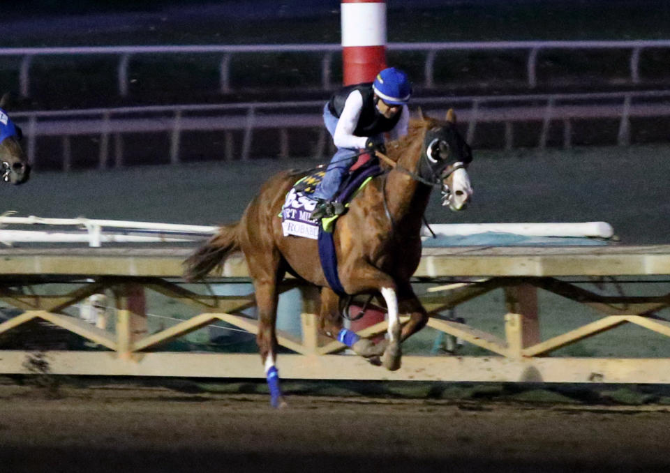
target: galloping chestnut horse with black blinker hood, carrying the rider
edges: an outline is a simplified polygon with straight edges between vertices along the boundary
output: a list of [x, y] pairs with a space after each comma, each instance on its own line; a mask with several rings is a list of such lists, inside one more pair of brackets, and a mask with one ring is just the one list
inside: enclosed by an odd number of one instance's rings
[[[319, 264], [313, 239], [284, 237], [281, 226], [286, 193], [304, 172], [282, 172], [272, 177], [248, 204], [241, 220], [221, 227], [185, 264], [186, 280], [198, 280], [219, 266], [230, 253], [241, 250], [253, 280], [258, 306], [257, 342], [274, 407], [285, 405], [275, 367], [277, 285], [286, 271], [322, 287], [319, 329], [325, 336], [349, 345], [354, 352], [382, 356], [389, 370], [401, 365], [401, 341], [419, 331], [428, 315], [415, 296], [410, 277], [421, 258], [422, 218], [433, 186], [444, 186], [445, 205], [463, 209], [472, 195], [465, 170], [472, 160], [470, 147], [456, 130], [452, 110], [447, 120], [412, 119], [400, 140], [387, 144], [385, 172], [373, 178], [352, 200], [336, 222], [333, 239], [338, 276], [346, 294], [381, 294], [388, 311], [387, 338], [373, 343], [343, 329], [340, 294], [329, 287]], [[409, 315], [401, 326], [400, 315]]]

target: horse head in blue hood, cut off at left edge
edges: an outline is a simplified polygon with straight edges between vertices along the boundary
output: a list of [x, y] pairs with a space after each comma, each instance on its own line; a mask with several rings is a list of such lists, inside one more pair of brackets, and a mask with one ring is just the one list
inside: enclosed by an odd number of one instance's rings
[[14, 122], [4, 108], [8, 94], [0, 99], [0, 173], [2, 180], [12, 184], [22, 184], [30, 177], [30, 165], [20, 145], [21, 128]]

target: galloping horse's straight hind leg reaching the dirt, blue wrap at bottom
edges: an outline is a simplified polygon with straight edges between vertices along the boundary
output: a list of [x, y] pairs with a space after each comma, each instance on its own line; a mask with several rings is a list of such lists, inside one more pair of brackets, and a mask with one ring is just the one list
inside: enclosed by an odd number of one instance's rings
[[277, 282], [278, 276], [274, 274], [253, 280], [259, 322], [256, 343], [258, 343], [260, 358], [265, 366], [271, 405], [272, 407], [285, 407], [286, 402], [279, 386], [279, 373], [275, 366], [278, 346], [275, 331], [278, 302]]

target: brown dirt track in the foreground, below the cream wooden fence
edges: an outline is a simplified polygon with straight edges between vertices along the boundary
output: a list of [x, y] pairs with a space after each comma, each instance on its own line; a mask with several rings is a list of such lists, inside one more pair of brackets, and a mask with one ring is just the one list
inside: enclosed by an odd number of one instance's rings
[[1, 472], [667, 471], [667, 407], [0, 386]]

